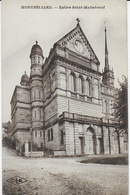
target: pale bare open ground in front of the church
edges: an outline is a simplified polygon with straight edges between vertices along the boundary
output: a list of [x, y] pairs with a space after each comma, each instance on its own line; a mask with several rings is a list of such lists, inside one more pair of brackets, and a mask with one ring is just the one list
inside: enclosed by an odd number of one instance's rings
[[[3, 147], [4, 195], [127, 195], [128, 166], [84, 164], [77, 158], [22, 158]], [[10, 183], [19, 176], [27, 181]], [[23, 179], [21, 179], [24, 181]]]

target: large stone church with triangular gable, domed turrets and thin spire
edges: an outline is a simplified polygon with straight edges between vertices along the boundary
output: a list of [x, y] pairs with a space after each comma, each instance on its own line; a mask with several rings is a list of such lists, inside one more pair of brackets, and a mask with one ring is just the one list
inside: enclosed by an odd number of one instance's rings
[[36, 41], [31, 72], [21, 77], [11, 99], [12, 139], [17, 152], [45, 155], [127, 152], [125, 133], [114, 119], [114, 71], [110, 67], [107, 29], [104, 70], [84, 34], [76, 27], [54, 43], [44, 60]]

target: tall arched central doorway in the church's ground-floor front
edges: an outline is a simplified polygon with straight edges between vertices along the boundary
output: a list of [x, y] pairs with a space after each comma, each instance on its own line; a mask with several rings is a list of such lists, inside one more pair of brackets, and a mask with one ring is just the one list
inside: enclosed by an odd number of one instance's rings
[[86, 153], [96, 154], [96, 133], [92, 127], [86, 130]]

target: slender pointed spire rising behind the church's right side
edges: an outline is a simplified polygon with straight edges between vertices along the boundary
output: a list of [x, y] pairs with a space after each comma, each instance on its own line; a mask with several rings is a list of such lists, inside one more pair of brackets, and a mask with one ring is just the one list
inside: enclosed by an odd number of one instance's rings
[[107, 86], [114, 86], [114, 72], [110, 68], [108, 60], [108, 48], [107, 48], [107, 29], [105, 27], [105, 67], [103, 71], [102, 82]]

